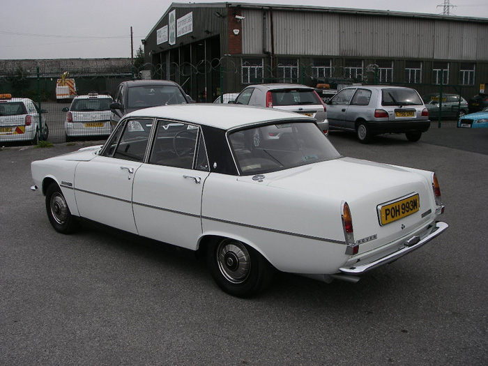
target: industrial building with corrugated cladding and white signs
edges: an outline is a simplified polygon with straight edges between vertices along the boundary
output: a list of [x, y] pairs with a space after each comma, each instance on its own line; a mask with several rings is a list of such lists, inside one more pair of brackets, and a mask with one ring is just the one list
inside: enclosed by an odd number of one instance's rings
[[142, 75], [199, 102], [248, 84], [408, 85], [465, 98], [488, 82], [488, 19], [262, 3], [172, 3], [142, 40]]

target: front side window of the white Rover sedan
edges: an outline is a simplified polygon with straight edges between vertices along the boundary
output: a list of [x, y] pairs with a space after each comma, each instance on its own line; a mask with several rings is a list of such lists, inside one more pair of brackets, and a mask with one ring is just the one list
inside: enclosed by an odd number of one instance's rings
[[146, 154], [152, 122], [151, 119], [129, 119], [119, 124], [102, 155], [142, 162]]

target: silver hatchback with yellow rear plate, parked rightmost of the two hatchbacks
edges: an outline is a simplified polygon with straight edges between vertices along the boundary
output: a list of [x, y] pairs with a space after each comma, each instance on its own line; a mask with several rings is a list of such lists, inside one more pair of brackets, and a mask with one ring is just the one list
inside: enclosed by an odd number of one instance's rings
[[409, 141], [429, 130], [429, 111], [415, 89], [402, 86], [351, 86], [327, 102], [331, 129], [356, 132], [367, 144], [374, 135], [404, 133]]

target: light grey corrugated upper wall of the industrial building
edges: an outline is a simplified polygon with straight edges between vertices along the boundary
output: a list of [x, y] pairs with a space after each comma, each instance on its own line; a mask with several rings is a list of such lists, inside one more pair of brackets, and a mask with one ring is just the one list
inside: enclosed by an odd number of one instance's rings
[[[243, 54], [262, 53], [264, 26], [270, 51], [269, 10], [243, 8], [243, 16]], [[488, 59], [488, 47], [480, 47], [487, 45], [488, 27], [475, 22], [273, 9], [273, 28], [275, 54]]]

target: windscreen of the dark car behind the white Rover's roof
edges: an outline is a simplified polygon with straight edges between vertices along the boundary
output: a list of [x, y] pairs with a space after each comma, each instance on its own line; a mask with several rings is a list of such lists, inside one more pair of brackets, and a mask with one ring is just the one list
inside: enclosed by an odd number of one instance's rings
[[186, 102], [181, 90], [174, 85], [132, 86], [128, 93], [128, 108], [141, 109]]

